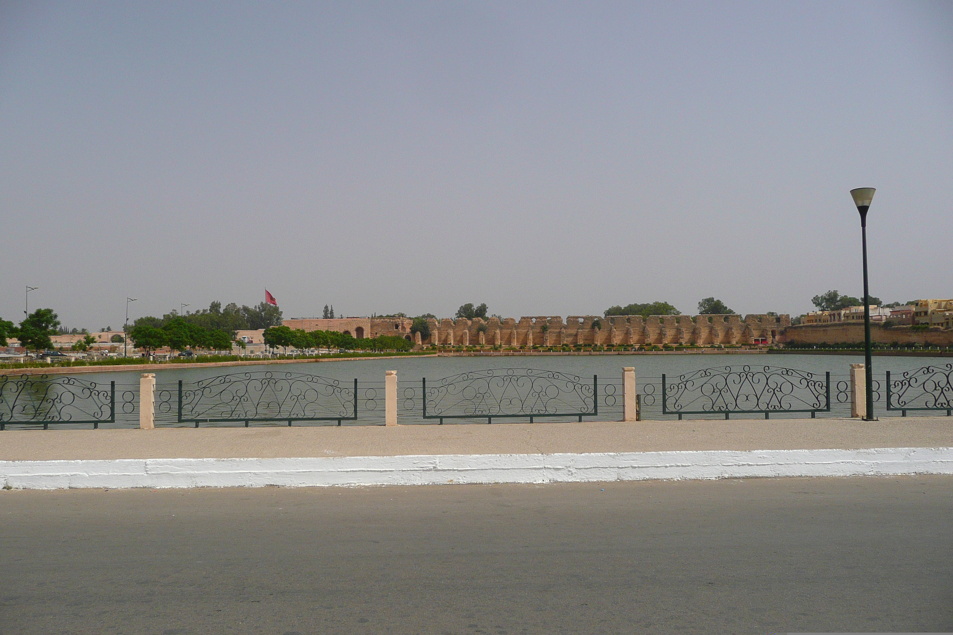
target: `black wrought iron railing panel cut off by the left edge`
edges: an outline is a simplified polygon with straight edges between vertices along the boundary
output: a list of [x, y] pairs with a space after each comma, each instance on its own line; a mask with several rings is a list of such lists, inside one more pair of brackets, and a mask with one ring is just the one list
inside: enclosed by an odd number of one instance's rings
[[70, 375], [0, 375], [0, 430], [8, 424], [112, 424], [116, 384]]

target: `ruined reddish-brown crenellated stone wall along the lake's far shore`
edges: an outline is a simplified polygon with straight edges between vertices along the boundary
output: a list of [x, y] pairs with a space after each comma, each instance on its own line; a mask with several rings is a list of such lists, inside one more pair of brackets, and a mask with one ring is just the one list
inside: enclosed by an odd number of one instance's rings
[[781, 330], [791, 325], [781, 315], [570, 315], [492, 317], [488, 320], [429, 320], [431, 346], [645, 346], [662, 344], [753, 344], [778, 342]]

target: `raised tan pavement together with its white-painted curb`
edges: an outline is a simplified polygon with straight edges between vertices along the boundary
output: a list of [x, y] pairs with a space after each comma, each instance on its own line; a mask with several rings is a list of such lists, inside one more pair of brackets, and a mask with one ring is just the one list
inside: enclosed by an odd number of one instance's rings
[[0, 433], [10, 487], [371, 486], [953, 473], [945, 418]]

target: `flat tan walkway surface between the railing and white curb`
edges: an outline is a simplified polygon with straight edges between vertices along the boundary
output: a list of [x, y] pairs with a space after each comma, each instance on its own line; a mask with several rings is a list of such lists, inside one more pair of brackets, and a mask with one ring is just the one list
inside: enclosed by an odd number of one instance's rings
[[953, 447], [953, 418], [5, 430], [0, 461]]

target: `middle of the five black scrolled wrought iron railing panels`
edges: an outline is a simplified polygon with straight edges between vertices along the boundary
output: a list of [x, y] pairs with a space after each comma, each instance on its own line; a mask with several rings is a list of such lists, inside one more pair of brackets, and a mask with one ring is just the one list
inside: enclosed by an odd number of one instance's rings
[[427, 384], [422, 380], [423, 418], [494, 419], [598, 415], [598, 377], [535, 368], [473, 370]]

